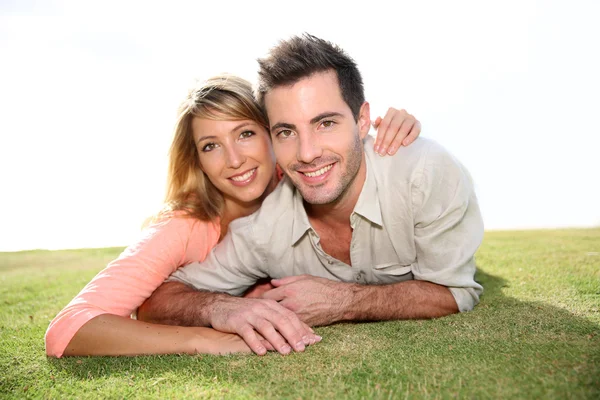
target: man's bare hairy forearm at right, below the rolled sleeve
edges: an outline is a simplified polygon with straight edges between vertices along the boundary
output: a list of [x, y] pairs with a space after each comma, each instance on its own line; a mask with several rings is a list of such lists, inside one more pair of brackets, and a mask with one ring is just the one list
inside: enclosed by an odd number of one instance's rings
[[458, 312], [450, 290], [426, 281], [406, 281], [391, 285], [354, 285], [344, 309], [344, 319], [378, 321], [427, 319]]

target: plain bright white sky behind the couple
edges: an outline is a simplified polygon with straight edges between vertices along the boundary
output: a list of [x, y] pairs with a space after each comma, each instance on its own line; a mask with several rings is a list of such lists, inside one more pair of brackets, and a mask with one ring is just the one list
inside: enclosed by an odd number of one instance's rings
[[600, 225], [598, 4], [1, 0], [0, 251], [135, 240], [193, 80], [304, 31], [469, 168], [487, 229]]

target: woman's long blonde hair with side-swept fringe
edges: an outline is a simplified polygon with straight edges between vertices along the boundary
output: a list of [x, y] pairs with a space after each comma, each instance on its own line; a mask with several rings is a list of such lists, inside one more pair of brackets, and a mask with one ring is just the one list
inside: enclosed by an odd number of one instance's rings
[[181, 103], [171, 149], [165, 207], [159, 216], [183, 211], [203, 221], [220, 217], [223, 196], [200, 169], [192, 119], [252, 120], [267, 130], [267, 119], [256, 103], [252, 86], [233, 75], [218, 75], [195, 86]]

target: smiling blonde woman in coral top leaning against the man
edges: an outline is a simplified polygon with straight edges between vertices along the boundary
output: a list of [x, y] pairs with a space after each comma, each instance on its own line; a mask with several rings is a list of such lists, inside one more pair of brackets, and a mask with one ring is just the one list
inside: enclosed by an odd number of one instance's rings
[[[394, 109], [374, 125], [380, 154], [388, 147], [393, 154], [420, 132], [414, 117]], [[267, 126], [250, 84], [241, 78], [217, 76], [190, 91], [170, 149], [165, 209], [54, 318], [46, 332], [47, 355], [250, 351], [234, 334], [129, 316], [177, 268], [204, 260], [229, 223], [256, 211], [275, 188], [281, 176]]]

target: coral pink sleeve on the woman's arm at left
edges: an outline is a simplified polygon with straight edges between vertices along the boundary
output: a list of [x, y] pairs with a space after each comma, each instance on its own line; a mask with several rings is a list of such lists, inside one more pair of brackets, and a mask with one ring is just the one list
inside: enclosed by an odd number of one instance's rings
[[135, 244], [100, 271], [52, 320], [46, 354], [61, 357], [77, 331], [101, 314], [128, 317], [179, 266], [203, 260], [219, 238], [218, 225], [172, 217], [149, 226]]

